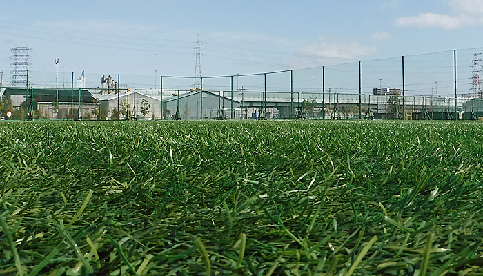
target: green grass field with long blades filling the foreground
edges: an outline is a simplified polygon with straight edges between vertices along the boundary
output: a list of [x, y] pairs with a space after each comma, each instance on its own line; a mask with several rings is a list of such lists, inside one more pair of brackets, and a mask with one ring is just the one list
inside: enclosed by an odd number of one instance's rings
[[482, 275], [483, 124], [2, 122], [0, 275]]

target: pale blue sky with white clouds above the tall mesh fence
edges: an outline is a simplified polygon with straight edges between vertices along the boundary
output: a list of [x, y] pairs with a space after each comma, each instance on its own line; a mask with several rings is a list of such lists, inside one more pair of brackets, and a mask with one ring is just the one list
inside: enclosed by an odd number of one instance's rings
[[0, 71], [9, 80], [10, 49], [28, 46], [30, 69], [55, 72], [59, 57], [63, 82], [194, 77], [197, 34], [203, 76], [298, 70], [481, 48], [482, 26], [483, 0], [3, 1]]

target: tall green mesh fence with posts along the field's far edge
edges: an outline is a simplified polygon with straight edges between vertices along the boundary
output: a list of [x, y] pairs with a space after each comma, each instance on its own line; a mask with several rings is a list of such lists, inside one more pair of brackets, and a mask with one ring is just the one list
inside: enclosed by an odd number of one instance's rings
[[[9, 90], [19, 87], [0, 84], [0, 116], [11, 109], [14, 119], [474, 120], [483, 106], [479, 52], [483, 48], [201, 78], [30, 70], [28, 88], [14, 99]], [[50, 97], [39, 96], [49, 89]], [[92, 99], [52, 99], [52, 90], [87, 90]]]

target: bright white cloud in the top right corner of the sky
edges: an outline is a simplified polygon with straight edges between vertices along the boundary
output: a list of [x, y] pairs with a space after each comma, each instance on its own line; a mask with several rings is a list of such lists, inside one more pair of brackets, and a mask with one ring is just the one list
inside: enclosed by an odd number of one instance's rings
[[417, 16], [400, 17], [396, 26], [455, 29], [483, 24], [482, 0], [449, 0], [451, 15], [426, 12]]

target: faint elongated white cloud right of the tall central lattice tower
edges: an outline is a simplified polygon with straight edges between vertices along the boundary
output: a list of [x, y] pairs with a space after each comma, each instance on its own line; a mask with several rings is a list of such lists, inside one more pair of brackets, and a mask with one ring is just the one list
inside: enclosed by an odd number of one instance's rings
[[319, 58], [358, 59], [375, 52], [377, 52], [377, 47], [375, 46], [362, 46], [356, 41], [327, 41], [327, 39], [324, 38], [319, 39], [319, 41], [315, 43], [299, 48], [299, 54]]

